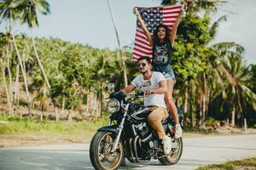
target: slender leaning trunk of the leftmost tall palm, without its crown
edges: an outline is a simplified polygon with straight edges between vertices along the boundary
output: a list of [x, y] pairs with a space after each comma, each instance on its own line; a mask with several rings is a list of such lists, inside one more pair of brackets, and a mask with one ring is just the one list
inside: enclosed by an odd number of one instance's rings
[[16, 50], [16, 53], [17, 53], [17, 56], [18, 56], [18, 59], [19, 59], [20, 68], [21, 68], [22, 76], [23, 76], [24, 83], [25, 83], [28, 114], [29, 114], [29, 116], [31, 116], [31, 111], [30, 111], [31, 101], [30, 101], [30, 95], [29, 95], [29, 92], [28, 92], [26, 73], [25, 73], [25, 70], [24, 70], [24, 67], [23, 67], [23, 64], [22, 64], [22, 60], [20, 58], [20, 53], [19, 53], [19, 50], [17, 48], [17, 44], [15, 42], [15, 36], [12, 33], [11, 33], [11, 36], [12, 36], [14, 44], [15, 44], [15, 50]]

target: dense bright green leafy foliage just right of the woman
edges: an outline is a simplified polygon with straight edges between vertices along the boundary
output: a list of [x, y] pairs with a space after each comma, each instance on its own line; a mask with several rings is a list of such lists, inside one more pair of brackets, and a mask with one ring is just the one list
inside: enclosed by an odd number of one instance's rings
[[207, 16], [201, 19], [188, 15], [179, 26], [172, 65], [177, 77], [182, 80], [195, 79], [201, 71], [207, 69], [207, 60], [212, 56], [211, 49], [206, 47], [211, 40], [209, 22]]

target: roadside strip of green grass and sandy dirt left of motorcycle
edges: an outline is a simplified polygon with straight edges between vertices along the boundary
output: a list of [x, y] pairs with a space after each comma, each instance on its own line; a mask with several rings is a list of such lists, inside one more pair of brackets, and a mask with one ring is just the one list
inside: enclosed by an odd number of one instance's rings
[[96, 129], [108, 124], [107, 118], [91, 119], [90, 121], [49, 121], [11, 117], [0, 114], [0, 147], [87, 143], [96, 133]]

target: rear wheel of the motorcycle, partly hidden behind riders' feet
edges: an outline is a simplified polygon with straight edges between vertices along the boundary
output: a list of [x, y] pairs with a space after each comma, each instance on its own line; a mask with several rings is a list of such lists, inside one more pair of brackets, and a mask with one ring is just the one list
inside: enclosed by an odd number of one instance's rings
[[179, 161], [183, 153], [183, 139], [179, 138], [177, 140], [177, 149], [172, 149], [171, 153], [167, 156], [161, 157], [159, 161], [163, 165], [174, 165]]

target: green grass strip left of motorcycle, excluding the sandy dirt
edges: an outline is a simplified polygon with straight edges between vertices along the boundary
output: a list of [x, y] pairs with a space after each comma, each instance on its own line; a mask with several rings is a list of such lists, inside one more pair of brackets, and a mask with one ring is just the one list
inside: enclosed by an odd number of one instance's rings
[[35, 119], [11, 117], [0, 115], [0, 134], [14, 133], [60, 133], [60, 134], [82, 134], [86, 132], [95, 132], [98, 127], [106, 125], [107, 119], [97, 119], [81, 122], [55, 122], [45, 120], [43, 122]]

